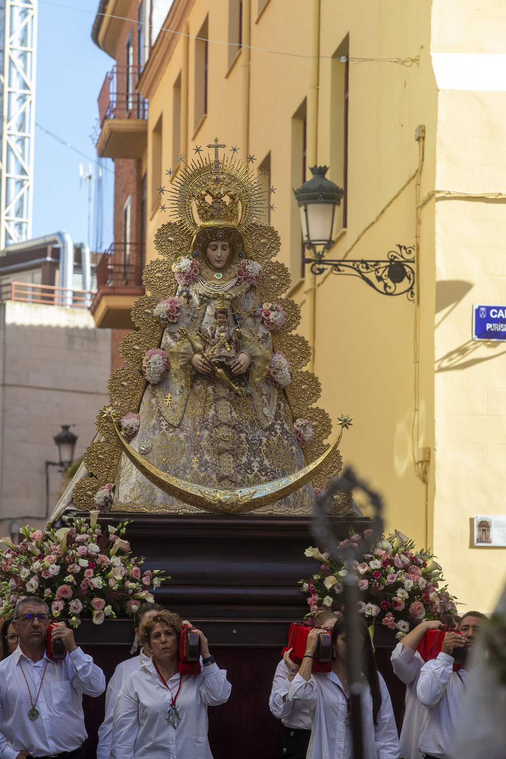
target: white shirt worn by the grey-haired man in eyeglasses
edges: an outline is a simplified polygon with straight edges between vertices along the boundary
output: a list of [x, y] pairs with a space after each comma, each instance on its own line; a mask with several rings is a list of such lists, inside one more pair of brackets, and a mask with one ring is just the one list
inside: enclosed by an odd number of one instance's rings
[[[21, 666], [35, 702], [46, 663], [46, 676], [36, 702], [39, 717], [30, 720], [30, 694]], [[44, 653], [40, 661], [33, 663], [18, 646], [0, 662], [1, 759], [16, 759], [20, 751], [43, 757], [79, 748], [88, 737], [81, 706], [83, 693], [99, 696], [104, 690], [102, 669], [80, 648], [64, 659], [48, 659]]]

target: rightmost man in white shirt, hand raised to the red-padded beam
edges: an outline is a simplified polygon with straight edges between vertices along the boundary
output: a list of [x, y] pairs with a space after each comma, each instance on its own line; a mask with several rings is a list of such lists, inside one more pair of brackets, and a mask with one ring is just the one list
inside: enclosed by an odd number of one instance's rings
[[[467, 679], [470, 649], [483, 619], [485, 615], [480, 612], [464, 614], [458, 632], [447, 632], [441, 653], [420, 670], [416, 694], [427, 709], [420, 728], [418, 748], [425, 754], [425, 759], [447, 759], [451, 752], [457, 714]], [[451, 652], [454, 648], [461, 648], [463, 652], [459, 672], [453, 671], [454, 659]]]

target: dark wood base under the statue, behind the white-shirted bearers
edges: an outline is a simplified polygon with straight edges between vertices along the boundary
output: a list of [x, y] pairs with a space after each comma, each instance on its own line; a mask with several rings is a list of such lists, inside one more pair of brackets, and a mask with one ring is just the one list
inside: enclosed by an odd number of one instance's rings
[[[132, 518], [130, 515], [127, 515]], [[103, 515], [102, 524], [118, 524], [122, 515]], [[333, 518], [341, 539], [350, 528], [368, 528], [368, 518]], [[144, 568], [162, 569], [171, 579], [156, 590], [156, 601], [190, 619], [205, 633], [220, 667], [227, 669], [231, 697], [209, 708], [209, 743], [214, 759], [270, 759], [283, 732], [269, 711], [269, 694], [281, 648], [291, 622], [308, 612], [300, 580], [318, 562], [304, 556], [315, 543], [309, 518], [158, 517], [135, 515], [126, 537]], [[397, 642], [392, 631], [375, 634], [376, 659], [401, 720], [404, 685], [391, 670], [390, 653]], [[134, 638], [130, 620], [93, 625], [83, 620], [77, 642], [102, 667], [108, 680], [127, 659]], [[105, 697], [84, 697], [86, 756], [94, 759], [96, 733]]]

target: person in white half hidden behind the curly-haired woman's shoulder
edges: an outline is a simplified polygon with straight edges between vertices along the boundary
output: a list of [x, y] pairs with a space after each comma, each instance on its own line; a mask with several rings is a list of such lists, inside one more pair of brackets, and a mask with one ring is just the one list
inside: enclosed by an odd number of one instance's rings
[[[139, 638], [139, 628], [142, 622], [149, 616], [162, 612], [163, 606], [159, 603], [141, 603], [137, 612], [134, 614], [135, 623], [135, 641], [134, 648], [137, 647], [137, 640]], [[132, 651], [130, 651], [132, 653]], [[99, 745], [96, 747], [96, 759], [109, 759], [111, 756], [111, 738], [112, 738], [112, 714], [115, 710], [116, 696], [121, 690], [121, 686], [130, 675], [141, 664], [149, 662], [152, 656], [152, 651], [149, 648], [149, 644], [145, 644], [140, 649], [138, 657], [132, 657], [124, 662], [118, 664], [115, 669], [115, 673], [109, 680], [107, 691], [105, 693], [105, 718], [102, 725], [99, 727]]]

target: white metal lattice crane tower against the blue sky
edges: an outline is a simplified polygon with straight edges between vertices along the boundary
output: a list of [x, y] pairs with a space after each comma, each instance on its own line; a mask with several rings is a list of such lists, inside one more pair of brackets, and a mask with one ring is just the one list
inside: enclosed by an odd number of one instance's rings
[[32, 236], [38, 0], [0, 0], [0, 250]]

